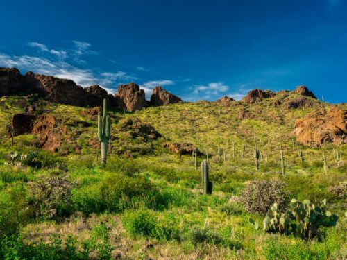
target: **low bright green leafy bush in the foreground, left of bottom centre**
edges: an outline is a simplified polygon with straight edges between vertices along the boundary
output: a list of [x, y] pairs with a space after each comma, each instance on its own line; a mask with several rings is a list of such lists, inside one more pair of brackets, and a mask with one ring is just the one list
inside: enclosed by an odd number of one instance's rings
[[144, 236], [163, 241], [180, 239], [178, 229], [176, 229], [174, 223], [168, 218], [159, 219], [153, 211], [126, 211], [122, 223], [126, 232], [133, 238]]

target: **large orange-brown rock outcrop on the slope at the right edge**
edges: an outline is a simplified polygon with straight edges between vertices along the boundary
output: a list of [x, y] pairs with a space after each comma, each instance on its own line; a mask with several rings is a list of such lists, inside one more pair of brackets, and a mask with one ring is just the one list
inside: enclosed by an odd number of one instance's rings
[[296, 120], [293, 133], [296, 141], [307, 146], [344, 144], [347, 141], [347, 111], [333, 107], [327, 114], [314, 112]]

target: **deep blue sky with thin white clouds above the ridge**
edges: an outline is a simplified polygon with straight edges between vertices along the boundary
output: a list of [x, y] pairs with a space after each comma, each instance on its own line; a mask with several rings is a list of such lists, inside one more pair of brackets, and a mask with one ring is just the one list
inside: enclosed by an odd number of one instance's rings
[[0, 66], [186, 101], [307, 85], [346, 102], [347, 1], [6, 1]]

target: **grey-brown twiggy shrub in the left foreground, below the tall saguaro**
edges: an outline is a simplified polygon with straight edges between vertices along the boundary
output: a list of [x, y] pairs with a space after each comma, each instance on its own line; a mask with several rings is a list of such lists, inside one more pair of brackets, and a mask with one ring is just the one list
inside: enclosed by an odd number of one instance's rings
[[67, 216], [74, 210], [71, 189], [74, 183], [69, 176], [38, 177], [29, 182], [31, 191], [29, 205], [37, 218], [57, 218]]

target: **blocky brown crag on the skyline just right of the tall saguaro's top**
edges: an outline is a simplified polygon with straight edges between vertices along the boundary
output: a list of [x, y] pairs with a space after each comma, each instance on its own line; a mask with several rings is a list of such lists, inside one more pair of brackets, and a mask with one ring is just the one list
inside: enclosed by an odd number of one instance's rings
[[115, 97], [117, 105], [130, 112], [141, 110], [147, 105], [144, 89], [140, 89], [135, 83], [119, 85]]

